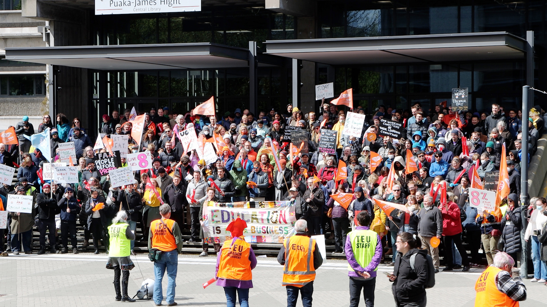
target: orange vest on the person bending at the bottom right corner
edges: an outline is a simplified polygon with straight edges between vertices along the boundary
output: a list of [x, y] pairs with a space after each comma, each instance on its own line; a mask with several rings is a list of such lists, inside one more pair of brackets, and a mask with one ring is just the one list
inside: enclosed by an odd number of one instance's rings
[[475, 284], [475, 307], [519, 307], [519, 302], [500, 292], [496, 286], [496, 276], [502, 269], [488, 267]]

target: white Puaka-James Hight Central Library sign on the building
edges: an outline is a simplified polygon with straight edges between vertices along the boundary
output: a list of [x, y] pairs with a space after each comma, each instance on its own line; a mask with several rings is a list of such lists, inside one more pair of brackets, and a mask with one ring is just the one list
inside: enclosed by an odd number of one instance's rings
[[97, 0], [95, 15], [201, 11], [201, 0]]

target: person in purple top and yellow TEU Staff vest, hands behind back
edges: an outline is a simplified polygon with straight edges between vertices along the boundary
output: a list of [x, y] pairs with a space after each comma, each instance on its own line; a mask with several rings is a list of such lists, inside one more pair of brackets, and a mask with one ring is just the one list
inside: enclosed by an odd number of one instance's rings
[[380, 235], [370, 230], [370, 215], [360, 211], [356, 217], [357, 227], [347, 234], [346, 259], [350, 276], [350, 307], [359, 306], [363, 291], [366, 307], [374, 306], [376, 270], [382, 258]]

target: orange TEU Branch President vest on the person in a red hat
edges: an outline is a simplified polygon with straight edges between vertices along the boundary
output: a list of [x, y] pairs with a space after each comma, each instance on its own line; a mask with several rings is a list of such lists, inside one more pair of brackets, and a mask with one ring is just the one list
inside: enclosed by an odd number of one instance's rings
[[217, 278], [252, 280], [250, 253], [251, 244], [247, 243], [243, 237], [224, 241], [220, 250]]

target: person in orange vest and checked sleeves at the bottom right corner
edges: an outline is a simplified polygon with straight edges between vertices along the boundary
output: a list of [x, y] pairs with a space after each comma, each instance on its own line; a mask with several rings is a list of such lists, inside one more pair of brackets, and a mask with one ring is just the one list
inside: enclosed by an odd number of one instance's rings
[[494, 262], [475, 284], [475, 307], [519, 307], [526, 300], [526, 286], [519, 276], [511, 278], [515, 261], [506, 252], [498, 252]]

